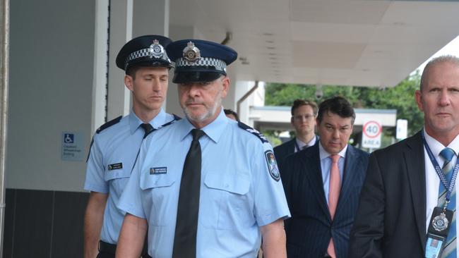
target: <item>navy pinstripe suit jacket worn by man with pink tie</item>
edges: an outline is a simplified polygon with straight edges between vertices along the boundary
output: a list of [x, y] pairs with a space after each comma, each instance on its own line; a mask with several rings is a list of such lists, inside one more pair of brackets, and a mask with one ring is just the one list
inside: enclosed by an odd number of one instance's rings
[[323, 257], [332, 235], [337, 257], [347, 257], [349, 233], [368, 157], [368, 153], [348, 145], [333, 221], [323, 190], [318, 144], [287, 157], [280, 174], [292, 214], [292, 218], [285, 221], [287, 257]]

